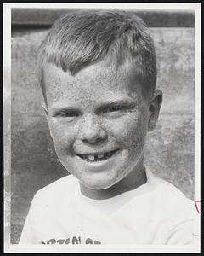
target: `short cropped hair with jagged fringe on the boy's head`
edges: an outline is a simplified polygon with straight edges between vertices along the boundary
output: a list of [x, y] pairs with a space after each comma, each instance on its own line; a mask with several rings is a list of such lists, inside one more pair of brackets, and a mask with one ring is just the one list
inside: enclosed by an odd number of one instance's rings
[[39, 79], [45, 100], [44, 65], [54, 63], [75, 75], [82, 67], [104, 59], [116, 63], [116, 68], [127, 61], [135, 67], [145, 93], [155, 90], [155, 47], [144, 21], [124, 11], [77, 11], [55, 21], [39, 49]]

